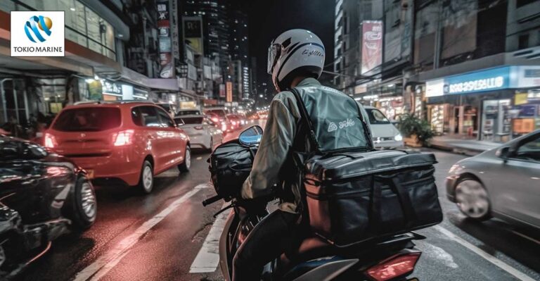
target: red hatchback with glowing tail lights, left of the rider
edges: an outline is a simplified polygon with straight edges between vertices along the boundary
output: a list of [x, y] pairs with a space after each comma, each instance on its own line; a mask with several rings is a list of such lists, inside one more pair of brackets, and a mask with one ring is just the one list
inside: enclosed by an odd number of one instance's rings
[[154, 175], [191, 166], [188, 136], [150, 103], [68, 106], [46, 130], [44, 144], [72, 158], [95, 182], [120, 180], [145, 193], [152, 191]]

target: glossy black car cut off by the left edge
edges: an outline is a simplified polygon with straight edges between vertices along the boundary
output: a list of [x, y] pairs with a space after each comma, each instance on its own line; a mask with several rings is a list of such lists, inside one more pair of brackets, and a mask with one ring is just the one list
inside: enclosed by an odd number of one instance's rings
[[96, 220], [94, 187], [75, 163], [0, 135], [0, 280], [41, 256], [51, 241]]

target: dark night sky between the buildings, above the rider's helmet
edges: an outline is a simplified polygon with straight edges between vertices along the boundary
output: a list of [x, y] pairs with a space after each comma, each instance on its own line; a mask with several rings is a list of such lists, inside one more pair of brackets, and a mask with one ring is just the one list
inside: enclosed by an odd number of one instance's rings
[[335, 0], [238, 1], [248, 14], [250, 56], [257, 58], [258, 83], [266, 81], [269, 92], [273, 87], [270, 75], [266, 73], [266, 55], [270, 42], [281, 32], [293, 28], [311, 30], [323, 40], [326, 49], [325, 65], [332, 63]]

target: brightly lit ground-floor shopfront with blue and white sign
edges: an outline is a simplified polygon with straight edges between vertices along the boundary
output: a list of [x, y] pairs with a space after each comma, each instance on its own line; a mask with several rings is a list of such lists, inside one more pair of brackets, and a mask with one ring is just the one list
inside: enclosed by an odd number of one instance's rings
[[437, 135], [507, 142], [540, 128], [539, 66], [503, 66], [426, 82]]

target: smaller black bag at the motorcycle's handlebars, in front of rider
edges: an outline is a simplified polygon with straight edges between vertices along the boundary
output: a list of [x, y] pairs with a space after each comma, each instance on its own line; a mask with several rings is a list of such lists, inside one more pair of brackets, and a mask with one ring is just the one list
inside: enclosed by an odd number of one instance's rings
[[218, 146], [210, 155], [210, 179], [214, 189], [225, 201], [238, 196], [250, 175], [257, 147], [247, 147], [237, 141]]

